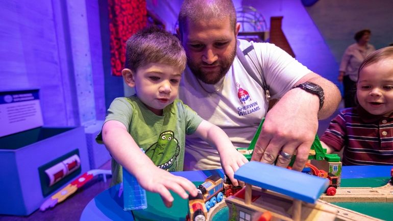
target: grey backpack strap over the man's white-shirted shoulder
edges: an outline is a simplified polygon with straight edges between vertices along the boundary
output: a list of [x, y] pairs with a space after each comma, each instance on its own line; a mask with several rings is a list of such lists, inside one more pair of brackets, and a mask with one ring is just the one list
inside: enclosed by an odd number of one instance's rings
[[[239, 48], [239, 44], [240, 42], [237, 43], [236, 48], [237, 58], [239, 59], [240, 63], [243, 65], [249, 76], [253, 78], [265, 91], [266, 101], [268, 102], [270, 100], [269, 86], [266, 85], [262, 67], [258, 62], [257, 53], [254, 50], [254, 46], [250, 44], [250, 46], [241, 51]], [[255, 72], [260, 73], [261, 79], [257, 77]]]

